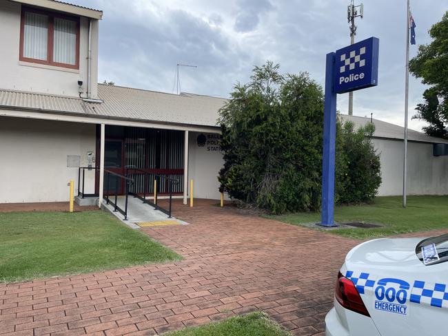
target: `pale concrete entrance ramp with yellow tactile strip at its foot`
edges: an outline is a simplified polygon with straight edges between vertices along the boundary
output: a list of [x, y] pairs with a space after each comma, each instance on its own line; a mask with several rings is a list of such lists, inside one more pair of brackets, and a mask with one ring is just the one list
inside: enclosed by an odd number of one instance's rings
[[[111, 198], [111, 200], [114, 200]], [[116, 200], [121, 209], [125, 209], [125, 196], [119, 196]], [[112, 204], [106, 204], [103, 200], [103, 206], [119, 218], [123, 223], [139, 229], [140, 227], [158, 227], [164, 225], [185, 225], [187, 222], [178, 220], [174, 217], [169, 218], [167, 214], [162, 211], [154, 209], [150, 204], [143, 203], [139, 198], [128, 196], [128, 220], [124, 220], [123, 215], [118, 211], [114, 211]]]

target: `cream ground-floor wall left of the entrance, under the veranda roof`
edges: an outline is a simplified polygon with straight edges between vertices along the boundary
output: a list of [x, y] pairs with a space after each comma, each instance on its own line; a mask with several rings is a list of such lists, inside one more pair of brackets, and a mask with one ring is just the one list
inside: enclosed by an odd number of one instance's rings
[[[78, 169], [67, 167], [67, 156], [95, 151], [95, 125], [0, 117], [0, 203], [62, 202], [67, 183]], [[85, 193], [94, 192], [94, 171], [86, 171]]]

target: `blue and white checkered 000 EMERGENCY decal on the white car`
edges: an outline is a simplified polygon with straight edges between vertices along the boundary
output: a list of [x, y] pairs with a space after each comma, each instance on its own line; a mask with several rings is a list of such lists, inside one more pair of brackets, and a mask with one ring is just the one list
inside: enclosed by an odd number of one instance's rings
[[366, 288], [372, 288], [375, 295], [374, 308], [379, 311], [407, 315], [407, 303], [409, 302], [448, 308], [447, 284], [415, 280], [414, 286], [411, 287], [405, 280], [394, 277], [376, 280], [371, 273], [355, 271], [347, 271], [345, 277], [352, 280], [360, 295], [365, 294]]

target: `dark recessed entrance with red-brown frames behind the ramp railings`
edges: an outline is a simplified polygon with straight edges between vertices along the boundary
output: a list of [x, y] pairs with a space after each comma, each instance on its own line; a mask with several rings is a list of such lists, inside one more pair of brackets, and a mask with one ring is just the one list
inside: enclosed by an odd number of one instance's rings
[[[99, 137], [97, 137], [99, 147]], [[154, 193], [157, 180], [159, 195], [169, 192], [168, 180], [156, 177], [143, 178], [147, 174], [159, 174], [179, 180], [173, 185], [173, 194], [183, 194], [184, 135], [169, 129], [145, 129], [140, 127], [105, 127], [105, 169], [134, 180], [132, 191], [146, 195]], [[99, 151], [97, 151], [99, 153]], [[109, 179], [109, 189], [108, 189]], [[112, 174], [104, 176], [105, 193], [124, 193], [124, 180]]]

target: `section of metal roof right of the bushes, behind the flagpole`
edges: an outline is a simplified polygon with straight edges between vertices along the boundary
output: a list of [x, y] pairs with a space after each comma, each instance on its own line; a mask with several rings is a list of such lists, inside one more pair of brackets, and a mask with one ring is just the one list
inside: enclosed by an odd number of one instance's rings
[[[347, 116], [346, 114], [340, 114], [340, 118], [342, 118], [342, 120], [352, 121], [356, 127], [364, 126], [367, 123], [370, 123], [370, 118], [361, 116]], [[375, 125], [374, 136], [376, 138], [389, 138], [397, 140], [403, 140], [405, 138], [405, 127], [386, 123], [385, 121], [378, 119], [372, 119], [372, 122]], [[414, 131], [414, 129], [407, 130], [407, 139], [410, 141], [420, 141], [423, 143], [448, 143], [448, 140], [427, 136], [422, 132]]]

